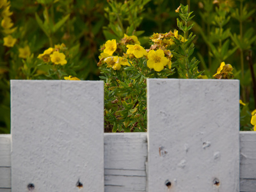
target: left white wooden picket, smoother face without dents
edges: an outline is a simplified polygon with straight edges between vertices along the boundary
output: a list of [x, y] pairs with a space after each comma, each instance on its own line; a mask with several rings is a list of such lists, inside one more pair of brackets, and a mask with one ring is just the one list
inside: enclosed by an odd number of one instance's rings
[[11, 93], [12, 191], [104, 191], [103, 82], [16, 80]]

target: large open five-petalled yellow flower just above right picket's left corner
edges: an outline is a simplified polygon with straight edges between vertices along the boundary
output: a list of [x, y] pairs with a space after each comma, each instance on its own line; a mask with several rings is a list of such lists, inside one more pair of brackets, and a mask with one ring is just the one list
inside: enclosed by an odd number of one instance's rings
[[[164, 51], [158, 49], [157, 51], [151, 50], [148, 52], [148, 68], [154, 68], [157, 72], [163, 70], [164, 66], [167, 65], [169, 60], [164, 57]], [[171, 63], [172, 67], [172, 63]]]

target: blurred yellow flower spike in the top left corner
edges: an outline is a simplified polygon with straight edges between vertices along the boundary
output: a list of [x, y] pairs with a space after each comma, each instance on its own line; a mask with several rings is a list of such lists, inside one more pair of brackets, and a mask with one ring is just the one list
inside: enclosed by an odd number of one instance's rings
[[3, 28], [3, 33], [6, 35], [4, 40], [4, 46], [13, 47], [17, 42], [17, 38], [13, 38], [11, 35], [17, 28], [13, 28], [13, 22], [10, 16], [13, 12], [10, 12], [10, 1], [2, 0], [0, 1], [0, 10], [1, 10], [1, 27]]

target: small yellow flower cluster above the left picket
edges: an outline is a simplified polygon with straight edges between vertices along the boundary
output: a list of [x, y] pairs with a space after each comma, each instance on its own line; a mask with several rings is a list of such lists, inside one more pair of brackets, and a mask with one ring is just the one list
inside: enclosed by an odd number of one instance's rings
[[49, 47], [46, 49], [44, 53], [39, 54], [37, 58], [43, 60], [45, 63], [52, 62], [55, 65], [65, 65], [67, 64], [66, 56], [63, 53], [65, 51], [66, 46], [64, 44], [54, 45], [54, 48]]

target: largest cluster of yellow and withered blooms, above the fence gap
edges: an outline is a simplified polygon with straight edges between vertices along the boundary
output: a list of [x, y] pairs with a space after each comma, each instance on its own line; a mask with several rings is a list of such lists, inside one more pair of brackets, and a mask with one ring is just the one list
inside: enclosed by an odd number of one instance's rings
[[[107, 68], [120, 70], [122, 65], [129, 66], [130, 63], [138, 63], [138, 59], [147, 61], [147, 67], [161, 72], [165, 66], [170, 70], [172, 68], [172, 52], [167, 49], [168, 45], [173, 45], [174, 33], [154, 33], [151, 40], [153, 45], [150, 49], [144, 49], [135, 35], [124, 35], [120, 42], [108, 40], [102, 46], [103, 52], [99, 56], [98, 66], [106, 64]], [[121, 52], [120, 52], [121, 50]], [[113, 56], [116, 53], [118, 56]]]

